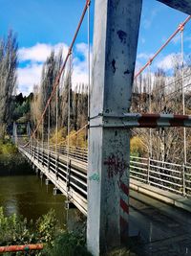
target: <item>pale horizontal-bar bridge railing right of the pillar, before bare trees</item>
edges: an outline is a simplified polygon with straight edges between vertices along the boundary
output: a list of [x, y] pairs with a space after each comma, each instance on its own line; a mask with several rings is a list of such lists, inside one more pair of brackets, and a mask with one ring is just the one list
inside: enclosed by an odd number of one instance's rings
[[191, 196], [191, 166], [131, 156], [130, 177], [163, 190]]

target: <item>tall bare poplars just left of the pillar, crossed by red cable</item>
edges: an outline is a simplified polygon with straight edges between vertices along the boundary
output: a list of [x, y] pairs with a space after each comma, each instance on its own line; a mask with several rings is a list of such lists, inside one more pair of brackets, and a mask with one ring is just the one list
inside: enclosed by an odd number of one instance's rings
[[[50, 57], [47, 58], [43, 65], [40, 84], [34, 85], [31, 104], [31, 121], [33, 127], [37, 125], [47, 101], [51, 96], [54, 81], [62, 62], [61, 51], [57, 55], [52, 51]], [[65, 76], [62, 76], [59, 86], [53, 95], [51, 104], [44, 115], [44, 133], [47, 134], [48, 132], [49, 122], [51, 132], [53, 133], [57, 122], [58, 129], [62, 128], [64, 135], [66, 135], [69, 118], [70, 130], [78, 130], [88, 122], [88, 88], [84, 83], [76, 84], [73, 87], [72, 64], [68, 66]], [[39, 133], [41, 132], [40, 129]]]

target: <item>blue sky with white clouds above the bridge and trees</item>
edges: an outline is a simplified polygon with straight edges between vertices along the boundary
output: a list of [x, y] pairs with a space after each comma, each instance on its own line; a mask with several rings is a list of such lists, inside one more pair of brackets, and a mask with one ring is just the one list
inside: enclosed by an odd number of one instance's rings
[[[0, 0], [0, 37], [12, 29], [19, 43], [18, 91], [25, 95], [40, 81], [43, 62], [54, 49], [66, 55], [85, 0]], [[143, 0], [138, 40], [137, 66], [152, 56], [159, 46], [186, 18], [186, 14], [170, 9], [155, 0]], [[94, 1], [91, 6], [93, 37]], [[185, 56], [191, 49], [191, 23], [184, 31]], [[92, 39], [91, 39], [92, 41]], [[153, 63], [166, 71], [172, 68], [172, 56], [180, 55], [180, 35]], [[74, 45], [73, 82], [87, 81], [87, 17]]]

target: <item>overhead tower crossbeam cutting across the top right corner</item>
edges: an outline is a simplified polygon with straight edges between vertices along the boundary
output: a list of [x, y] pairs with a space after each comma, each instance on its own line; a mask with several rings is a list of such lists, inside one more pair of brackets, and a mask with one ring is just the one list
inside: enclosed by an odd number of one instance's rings
[[191, 1], [190, 0], [157, 0], [169, 7], [185, 12], [191, 15]]

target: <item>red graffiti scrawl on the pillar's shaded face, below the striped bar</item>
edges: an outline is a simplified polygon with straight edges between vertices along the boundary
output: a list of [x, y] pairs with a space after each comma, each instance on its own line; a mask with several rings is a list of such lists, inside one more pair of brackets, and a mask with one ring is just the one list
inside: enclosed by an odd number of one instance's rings
[[127, 167], [124, 159], [120, 159], [118, 156], [112, 154], [108, 157], [106, 161], [104, 161], [104, 165], [108, 166], [108, 177], [114, 177], [114, 175], [118, 175], [121, 177]]

